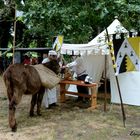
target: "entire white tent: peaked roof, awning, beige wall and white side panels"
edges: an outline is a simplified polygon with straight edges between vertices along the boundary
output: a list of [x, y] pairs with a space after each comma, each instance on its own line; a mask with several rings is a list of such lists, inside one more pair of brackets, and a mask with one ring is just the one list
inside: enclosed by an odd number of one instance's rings
[[[121, 25], [121, 23], [115, 19], [107, 28], [110, 38], [112, 34], [116, 33], [128, 33], [128, 31]], [[88, 44], [63, 44], [62, 54], [81, 54], [84, 58], [85, 65], [87, 67], [88, 74], [92, 76], [93, 81], [99, 82], [102, 72], [105, 66], [105, 55], [109, 54], [107, 50], [108, 45], [105, 42], [106, 31], [97, 35]], [[108, 60], [109, 59], [108, 57]], [[112, 68], [112, 63], [108, 63], [108, 72], [110, 74], [111, 82], [111, 102], [120, 103], [117, 84], [115, 81], [115, 74]], [[122, 100], [125, 104], [140, 106], [140, 72], [128, 72], [118, 75], [120, 90], [122, 94]], [[135, 81], [135, 83], [133, 82]], [[71, 89], [73, 90], [73, 89]]]

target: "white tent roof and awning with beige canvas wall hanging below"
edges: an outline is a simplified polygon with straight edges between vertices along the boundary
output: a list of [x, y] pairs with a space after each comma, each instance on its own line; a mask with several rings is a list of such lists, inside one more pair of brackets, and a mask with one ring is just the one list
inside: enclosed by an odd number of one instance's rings
[[[121, 25], [121, 23], [115, 19], [108, 27], [108, 34], [115, 33], [127, 33], [128, 31]], [[105, 38], [106, 31], [104, 30], [97, 37]], [[95, 37], [95, 39], [97, 39]], [[63, 43], [61, 48], [61, 54], [81, 54], [84, 57], [85, 65], [88, 74], [92, 76], [95, 82], [99, 82], [105, 65], [105, 54], [109, 55], [108, 44], [106, 41], [95, 42], [93, 41], [87, 44], [66, 44]], [[97, 65], [98, 64], [98, 65]], [[111, 65], [111, 64], [110, 64]]]

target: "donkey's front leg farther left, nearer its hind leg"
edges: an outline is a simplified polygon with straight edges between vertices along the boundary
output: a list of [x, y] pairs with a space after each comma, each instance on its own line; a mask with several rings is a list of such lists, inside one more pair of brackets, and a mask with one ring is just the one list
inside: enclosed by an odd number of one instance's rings
[[34, 116], [34, 107], [37, 102], [37, 93], [32, 95], [32, 100], [31, 100], [31, 107], [30, 107], [30, 116]]

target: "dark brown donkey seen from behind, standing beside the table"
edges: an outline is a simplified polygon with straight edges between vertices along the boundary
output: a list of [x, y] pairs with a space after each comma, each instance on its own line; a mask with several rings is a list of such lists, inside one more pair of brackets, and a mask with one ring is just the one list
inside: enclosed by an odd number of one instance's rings
[[[44, 64], [46, 67], [59, 73], [60, 67], [57, 60]], [[20, 103], [22, 95], [32, 95], [30, 116], [34, 116], [34, 107], [37, 104], [37, 115], [41, 115], [41, 102], [45, 87], [43, 87], [37, 70], [30, 65], [12, 64], [3, 74], [9, 100], [9, 125], [13, 132], [17, 131], [15, 118], [16, 106]]]

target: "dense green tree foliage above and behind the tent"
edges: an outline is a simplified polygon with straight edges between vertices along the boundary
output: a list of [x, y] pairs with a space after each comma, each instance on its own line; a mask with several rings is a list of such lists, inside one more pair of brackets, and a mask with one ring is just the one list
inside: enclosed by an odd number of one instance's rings
[[[13, 5], [24, 11], [22, 18], [26, 28], [19, 28], [23, 35], [17, 42], [29, 47], [51, 47], [53, 37], [64, 35], [64, 42], [87, 43], [107, 27], [115, 16], [128, 29], [140, 30], [139, 0], [12, 0], [1, 9], [3, 19], [13, 20]], [[2, 7], [3, 2], [0, 2]], [[3, 13], [3, 14], [2, 14]], [[11, 16], [12, 15], [12, 16]], [[12, 25], [11, 25], [12, 26]], [[21, 27], [21, 26], [19, 26]], [[9, 30], [10, 31], [10, 30]], [[19, 36], [19, 35], [17, 35]]]

